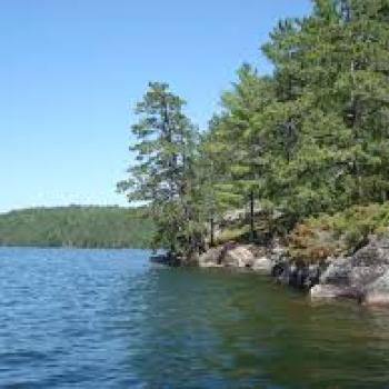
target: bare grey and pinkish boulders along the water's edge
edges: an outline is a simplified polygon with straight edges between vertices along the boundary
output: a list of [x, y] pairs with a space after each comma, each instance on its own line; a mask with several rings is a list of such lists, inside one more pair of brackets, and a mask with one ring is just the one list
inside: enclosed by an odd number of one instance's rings
[[369, 306], [389, 307], [389, 236], [371, 236], [348, 257], [319, 263], [291, 260], [278, 242], [270, 247], [228, 242], [202, 253], [201, 268], [246, 268], [278, 282], [306, 290], [312, 300], [353, 299]]

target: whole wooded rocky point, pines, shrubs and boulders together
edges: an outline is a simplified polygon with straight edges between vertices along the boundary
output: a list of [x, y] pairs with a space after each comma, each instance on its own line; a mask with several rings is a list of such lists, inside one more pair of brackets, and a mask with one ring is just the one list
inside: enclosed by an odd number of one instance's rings
[[389, 303], [387, 23], [381, 1], [280, 21], [262, 46], [273, 72], [241, 66], [203, 130], [149, 83], [119, 190], [148, 205], [167, 263], [262, 267], [312, 298]]

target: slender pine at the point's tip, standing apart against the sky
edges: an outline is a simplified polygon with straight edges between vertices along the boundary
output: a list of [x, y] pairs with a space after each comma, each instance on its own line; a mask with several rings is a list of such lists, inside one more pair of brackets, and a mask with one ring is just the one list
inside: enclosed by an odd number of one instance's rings
[[129, 179], [118, 184], [129, 201], [146, 202], [157, 225], [153, 245], [177, 256], [187, 235], [192, 178], [192, 156], [197, 132], [183, 114], [184, 101], [169, 91], [167, 83], [150, 82], [132, 126], [136, 143], [130, 147], [136, 163]]

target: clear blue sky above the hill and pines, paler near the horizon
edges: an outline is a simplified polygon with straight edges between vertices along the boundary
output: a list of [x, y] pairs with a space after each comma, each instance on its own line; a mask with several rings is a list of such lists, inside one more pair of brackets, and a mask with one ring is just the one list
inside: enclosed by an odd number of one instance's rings
[[167, 81], [205, 127], [243, 61], [309, 0], [2, 0], [0, 212], [124, 205], [131, 107]]

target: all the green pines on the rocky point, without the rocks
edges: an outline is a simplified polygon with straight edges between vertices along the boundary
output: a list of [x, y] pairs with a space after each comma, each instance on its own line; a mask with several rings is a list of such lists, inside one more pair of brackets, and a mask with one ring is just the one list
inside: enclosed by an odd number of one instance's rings
[[315, 0], [263, 44], [272, 73], [245, 63], [201, 131], [184, 100], [151, 82], [136, 107], [137, 163], [119, 190], [149, 203], [153, 246], [190, 258], [232, 208], [248, 210], [253, 242], [257, 209], [282, 215], [288, 233], [308, 217], [386, 202], [388, 23], [388, 0]]

